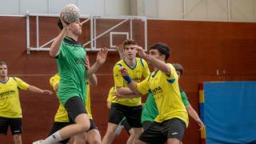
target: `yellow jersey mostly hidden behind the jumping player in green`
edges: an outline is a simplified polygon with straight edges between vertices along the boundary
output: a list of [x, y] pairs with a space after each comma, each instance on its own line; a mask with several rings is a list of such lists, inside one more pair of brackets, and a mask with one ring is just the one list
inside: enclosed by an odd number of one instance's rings
[[[60, 80], [59, 74], [55, 74], [53, 77], [50, 78], [50, 85], [53, 86], [54, 90], [57, 90], [56, 86]], [[92, 114], [90, 110], [90, 85], [86, 85], [86, 103], [85, 108], [87, 111], [88, 116], [92, 119]], [[59, 103], [57, 113], [54, 117], [54, 122], [69, 122], [69, 117], [66, 112], [65, 107], [62, 105], [62, 103]]]

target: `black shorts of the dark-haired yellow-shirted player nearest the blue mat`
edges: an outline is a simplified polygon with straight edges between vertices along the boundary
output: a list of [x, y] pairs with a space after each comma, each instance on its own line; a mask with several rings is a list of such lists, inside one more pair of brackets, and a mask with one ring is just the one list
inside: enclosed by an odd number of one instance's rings
[[179, 118], [171, 118], [164, 122], [152, 123], [138, 139], [151, 144], [164, 143], [168, 138], [177, 138], [182, 141], [185, 130], [185, 122]]

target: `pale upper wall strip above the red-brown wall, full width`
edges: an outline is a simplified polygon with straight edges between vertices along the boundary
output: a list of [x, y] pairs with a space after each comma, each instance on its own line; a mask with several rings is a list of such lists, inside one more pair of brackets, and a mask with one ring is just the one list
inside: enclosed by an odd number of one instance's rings
[[82, 14], [216, 21], [227, 21], [230, 16], [234, 21], [256, 21], [256, 0], [2, 0], [0, 14], [26, 14], [26, 10], [58, 14], [68, 3], [77, 5]]

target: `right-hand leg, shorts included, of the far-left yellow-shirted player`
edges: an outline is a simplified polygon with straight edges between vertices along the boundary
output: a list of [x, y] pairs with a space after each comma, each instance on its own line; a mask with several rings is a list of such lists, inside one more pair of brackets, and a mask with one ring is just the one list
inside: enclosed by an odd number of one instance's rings
[[9, 118], [9, 124], [14, 144], [22, 144], [22, 118]]

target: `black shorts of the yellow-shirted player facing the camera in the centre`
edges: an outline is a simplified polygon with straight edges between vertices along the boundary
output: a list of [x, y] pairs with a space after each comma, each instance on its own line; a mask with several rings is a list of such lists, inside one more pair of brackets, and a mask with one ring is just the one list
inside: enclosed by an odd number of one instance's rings
[[142, 106], [123, 106], [112, 103], [109, 122], [118, 125], [124, 117], [126, 117], [130, 127], [141, 128]]

